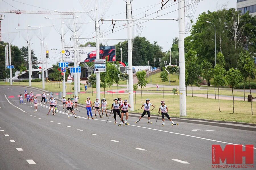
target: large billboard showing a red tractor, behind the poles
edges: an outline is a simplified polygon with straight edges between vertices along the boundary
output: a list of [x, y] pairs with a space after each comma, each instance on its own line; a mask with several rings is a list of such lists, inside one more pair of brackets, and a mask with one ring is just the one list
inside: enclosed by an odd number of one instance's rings
[[[100, 59], [106, 59], [107, 61], [116, 61], [115, 59], [115, 46], [100, 46]], [[71, 49], [65, 50], [65, 62], [74, 62], [74, 51]], [[79, 47], [78, 62], [94, 62], [96, 59], [96, 47]]]

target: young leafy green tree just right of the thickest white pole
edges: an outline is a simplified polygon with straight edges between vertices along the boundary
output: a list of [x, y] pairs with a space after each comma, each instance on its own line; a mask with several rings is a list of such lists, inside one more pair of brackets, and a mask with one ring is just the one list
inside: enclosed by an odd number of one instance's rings
[[201, 75], [201, 68], [197, 64], [197, 52], [190, 49], [185, 54], [185, 61], [186, 66], [185, 69], [187, 70], [187, 85], [191, 84], [192, 88], [192, 97], [193, 97], [193, 84], [196, 86], [200, 86], [200, 75]]

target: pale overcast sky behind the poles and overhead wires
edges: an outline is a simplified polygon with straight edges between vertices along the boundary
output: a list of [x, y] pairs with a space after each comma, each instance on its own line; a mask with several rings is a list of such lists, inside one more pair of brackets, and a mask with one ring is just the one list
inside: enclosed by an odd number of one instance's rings
[[[92, 0], [84, 0], [84, 1], [92, 1]], [[126, 18], [126, 3], [123, 0], [100, 0], [102, 2], [111, 2], [109, 10], [103, 16], [104, 19], [125, 19]], [[22, 2], [22, 3], [19, 3]], [[133, 18], [141, 18], [147, 15], [145, 18], [155, 18], [157, 13], [154, 13], [161, 8], [160, 4], [161, 0], [133, 0], [132, 1], [132, 14]], [[177, 0], [178, 2], [178, 0]], [[8, 3], [8, 4], [7, 4]], [[26, 5], [26, 4], [30, 5]], [[37, 6], [33, 7], [31, 5]], [[106, 5], [106, 4], [104, 4]], [[168, 5], [170, 5], [168, 7]], [[172, 6], [171, 6], [172, 5]], [[216, 11], [220, 8], [236, 8], [236, 0], [201, 0], [198, 3], [193, 22], [196, 22], [197, 16], [202, 12]], [[41, 8], [38, 8], [41, 7]], [[158, 15], [166, 14], [161, 18], [177, 18], [178, 17], [178, 4], [175, 4], [173, 0], [169, 0], [166, 6], [166, 9], [163, 9], [158, 12]], [[46, 9], [43, 9], [46, 8]], [[3, 10], [26, 10], [26, 11], [85, 11], [82, 8], [82, 5], [78, 0], [44, 0], [44, 1], [32, 1], [32, 0], [3, 0], [0, 1], [0, 11]], [[44, 14], [13, 14], [13, 13], [1, 13], [5, 14], [5, 20], [1, 21], [1, 31], [2, 32], [12, 32], [17, 31], [15, 28], [18, 28], [18, 24], [20, 25], [20, 29], [27, 28], [27, 25], [30, 26], [49, 26], [55, 24], [57, 26], [60, 20], [47, 20], [44, 17], [48, 18], [56, 18], [59, 15], [44, 15]], [[150, 15], [151, 14], [151, 15]], [[86, 14], [78, 13], [77, 16], [78, 22], [90, 22], [88, 24], [82, 24], [82, 27], [79, 30], [81, 34], [80, 37], [91, 38], [95, 36], [95, 22], [88, 17]], [[67, 16], [66, 16], [67, 17]], [[56, 23], [57, 22], [57, 23]], [[65, 21], [66, 22], [66, 21]], [[133, 29], [133, 36], [140, 35], [141, 37], [146, 37], [151, 43], [154, 41], [158, 42], [158, 45], [162, 46], [162, 51], [166, 52], [169, 50], [172, 40], [175, 37], [178, 37], [178, 22], [174, 20], [150, 20], [150, 21], [140, 21], [139, 24], [140, 29]], [[104, 21], [103, 24], [100, 23], [100, 32], [106, 38], [112, 39], [127, 39], [127, 28], [123, 28], [123, 24], [125, 21], [117, 21], [115, 24], [114, 32], [112, 33], [112, 21]], [[141, 30], [141, 28], [143, 28]], [[120, 29], [120, 30], [119, 30]], [[61, 49], [61, 37], [55, 31], [53, 27], [47, 27], [43, 29], [44, 33], [48, 33], [45, 38], [45, 44], [47, 44], [47, 48], [50, 51], [50, 59], [48, 60], [49, 64], [55, 64], [59, 61], [60, 49]], [[18, 47], [27, 46], [27, 42], [23, 39], [22, 35], [24, 35], [24, 31], [20, 31], [19, 34], [15, 37], [12, 42], [13, 45]], [[72, 36], [72, 32], [68, 31], [65, 34], [65, 46], [72, 46], [73, 41], [70, 41], [70, 37]], [[189, 36], [185, 34], [185, 37]], [[2, 34], [3, 37], [3, 34]], [[2, 40], [3, 41], [3, 40]], [[79, 39], [80, 44], [84, 44], [88, 42], [85, 39]], [[92, 41], [92, 40], [90, 40]], [[120, 40], [124, 41], [124, 40]], [[40, 39], [34, 36], [31, 40], [31, 48], [34, 50], [34, 53], [38, 59], [41, 59], [41, 46]], [[117, 44], [117, 40], [102, 40], [104, 45], [113, 45]], [[59, 49], [59, 50], [51, 50], [51, 49]]]

